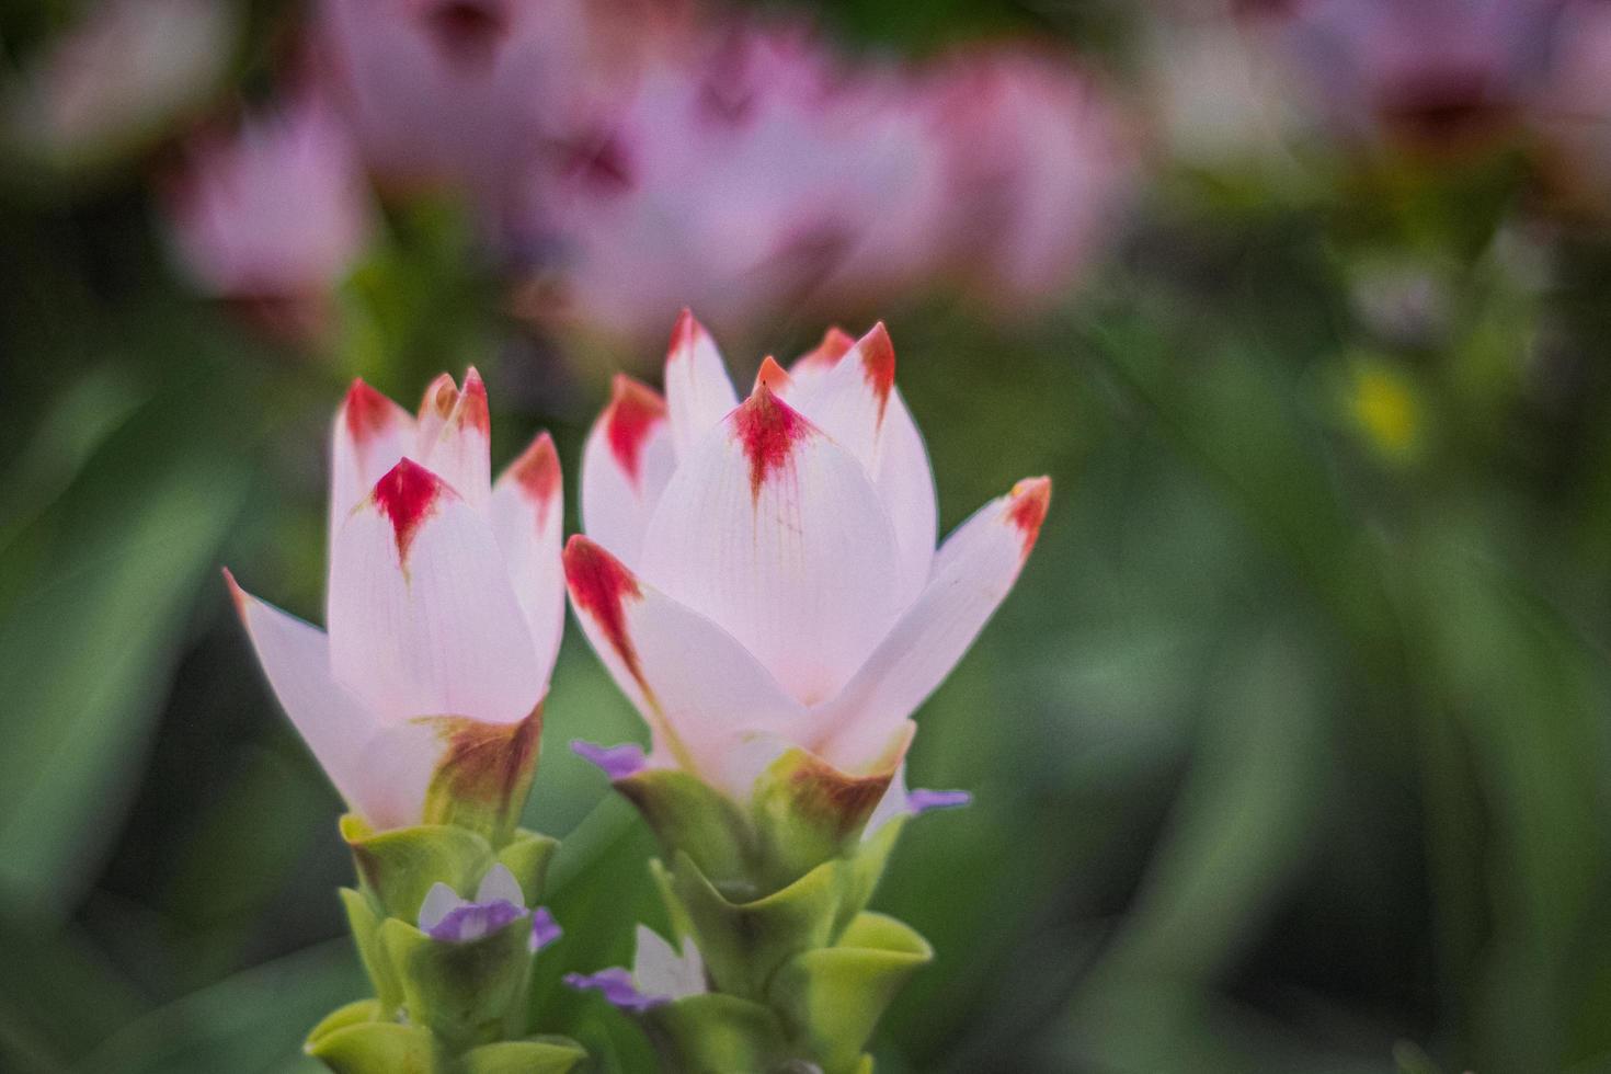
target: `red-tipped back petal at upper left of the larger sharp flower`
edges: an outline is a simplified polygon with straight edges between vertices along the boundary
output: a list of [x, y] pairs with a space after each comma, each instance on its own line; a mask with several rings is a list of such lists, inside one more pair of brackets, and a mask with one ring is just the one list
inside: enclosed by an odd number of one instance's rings
[[582, 449], [582, 528], [636, 568], [649, 517], [677, 469], [665, 403], [615, 377], [611, 403]]

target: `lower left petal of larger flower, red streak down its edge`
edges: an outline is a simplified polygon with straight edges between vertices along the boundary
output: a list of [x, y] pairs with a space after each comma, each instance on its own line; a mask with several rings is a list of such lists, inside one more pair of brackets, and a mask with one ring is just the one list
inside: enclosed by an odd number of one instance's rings
[[715, 781], [735, 728], [799, 728], [806, 710], [730, 634], [633, 576], [594, 541], [565, 546], [577, 620], [656, 734], [656, 752]]

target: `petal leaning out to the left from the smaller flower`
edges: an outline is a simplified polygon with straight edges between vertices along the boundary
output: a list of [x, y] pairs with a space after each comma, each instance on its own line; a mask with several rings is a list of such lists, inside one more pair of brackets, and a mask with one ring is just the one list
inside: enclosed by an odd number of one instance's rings
[[375, 720], [332, 678], [324, 631], [248, 594], [227, 570], [224, 580], [285, 715], [346, 803], [374, 823], [364, 744]]

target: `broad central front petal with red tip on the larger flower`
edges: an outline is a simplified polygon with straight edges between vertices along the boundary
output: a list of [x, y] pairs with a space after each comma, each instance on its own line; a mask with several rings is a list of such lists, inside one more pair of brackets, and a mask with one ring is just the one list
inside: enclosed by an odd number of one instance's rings
[[814, 704], [894, 622], [896, 562], [860, 462], [760, 386], [672, 477], [643, 575]]

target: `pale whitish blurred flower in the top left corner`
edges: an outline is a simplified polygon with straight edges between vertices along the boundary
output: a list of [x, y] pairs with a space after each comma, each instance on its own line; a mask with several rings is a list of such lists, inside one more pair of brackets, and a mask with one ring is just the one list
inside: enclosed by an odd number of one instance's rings
[[103, 0], [11, 81], [6, 140], [55, 166], [137, 148], [197, 108], [229, 68], [240, 11], [219, 0]]

